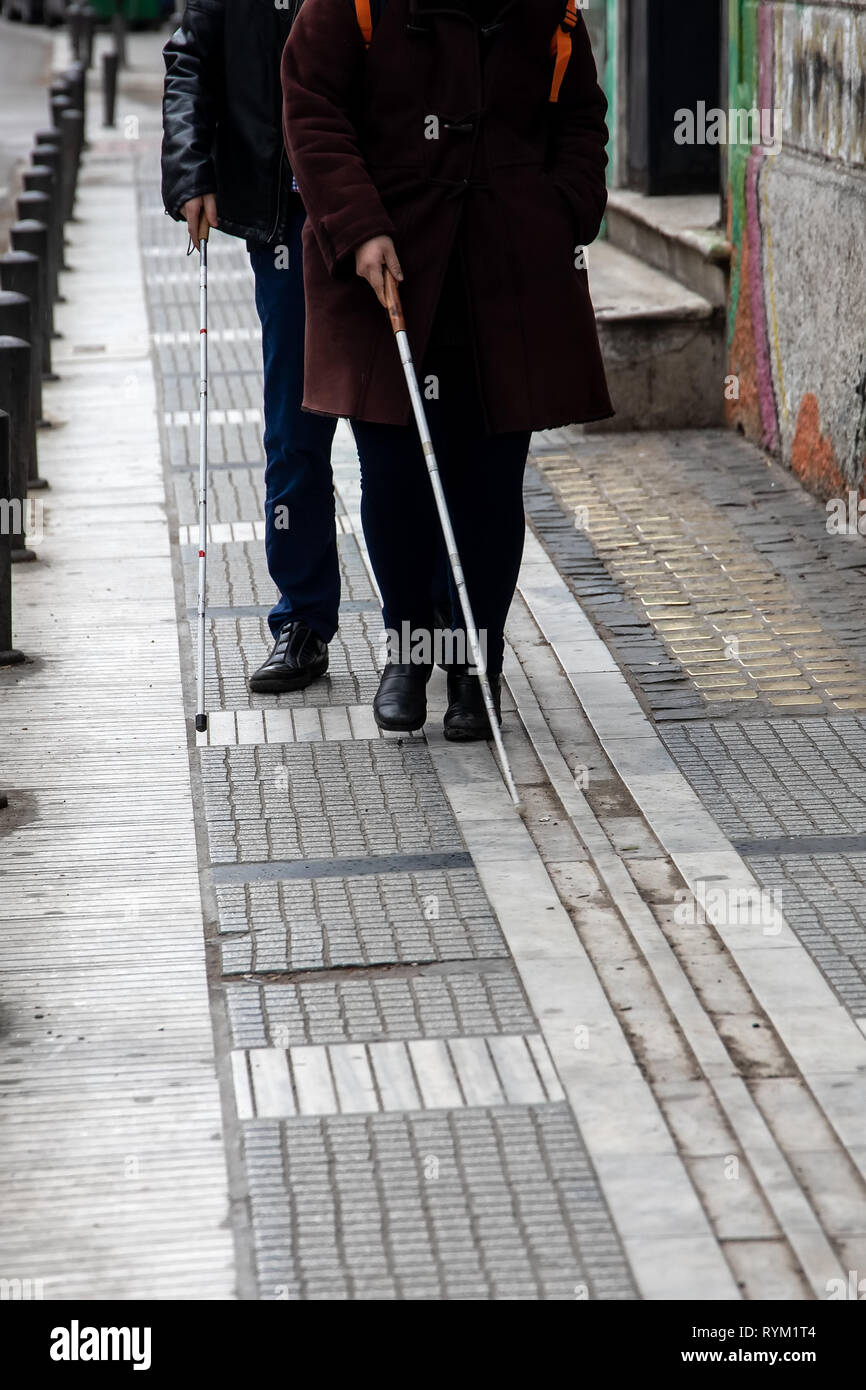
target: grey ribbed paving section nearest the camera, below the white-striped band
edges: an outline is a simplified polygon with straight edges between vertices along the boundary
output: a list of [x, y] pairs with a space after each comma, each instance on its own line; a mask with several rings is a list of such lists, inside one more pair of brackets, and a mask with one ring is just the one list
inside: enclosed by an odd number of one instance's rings
[[245, 1126], [263, 1300], [634, 1298], [566, 1105]]

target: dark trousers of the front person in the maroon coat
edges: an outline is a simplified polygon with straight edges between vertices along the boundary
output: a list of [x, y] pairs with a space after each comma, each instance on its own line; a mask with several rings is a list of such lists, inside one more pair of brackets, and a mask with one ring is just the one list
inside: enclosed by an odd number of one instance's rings
[[[461, 352], [441, 352], [432, 366], [424, 364], [418, 373], [423, 393], [432, 375], [439, 399], [424, 406], [473, 617], [485, 634], [488, 670], [498, 674], [525, 535], [523, 474], [530, 434], [485, 434], [474, 370]], [[385, 628], [396, 634], [430, 631], [442, 542], [417, 430], [414, 423], [398, 427], [360, 420], [352, 421], [352, 428], [361, 461], [361, 521], [382, 591]], [[460, 651], [466, 631], [453, 584], [450, 588]], [[471, 660], [468, 646], [464, 649]], [[392, 659], [409, 660], [409, 655], [403, 648], [400, 656], [392, 651]]]

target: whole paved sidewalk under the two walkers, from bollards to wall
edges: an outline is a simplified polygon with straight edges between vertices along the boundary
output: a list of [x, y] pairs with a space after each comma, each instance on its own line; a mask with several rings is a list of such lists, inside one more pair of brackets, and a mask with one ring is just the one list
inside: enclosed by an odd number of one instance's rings
[[489, 749], [442, 739], [441, 673], [423, 737], [373, 723], [341, 425], [331, 678], [250, 696], [259, 339], [214, 236], [196, 739], [197, 263], [157, 113], [126, 107], [140, 139], [90, 132], [72, 228], [67, 423], [17, 574], [33, 663], [0, 671], [0, 1275], [826, 1298], [866, 1268], [866, 546], [733, 435], [537, 436], [505, 699], [524, 823]]

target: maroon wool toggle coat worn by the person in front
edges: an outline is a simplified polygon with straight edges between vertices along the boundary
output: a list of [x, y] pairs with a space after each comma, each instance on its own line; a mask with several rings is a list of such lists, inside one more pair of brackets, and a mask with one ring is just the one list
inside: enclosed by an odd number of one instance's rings
[[430, 0], [428, 32], [409, 33], [417, 4], [388, 0], [366, 50], [353, 0], [304, 0], [284, 51], [284, 133], [309, 214], [304, 407], [410, 418], [388, 316], [354, 272], [354, 249], [388, 235], [417, 364], [460, 239], [492, 434], [606, 418], [587, 272], [575, 267], [607, 199], [606, 100], [584, 21], [552, 106], [564, 0], [503, 3], [503, 26], [487, 40], [474, 19]]

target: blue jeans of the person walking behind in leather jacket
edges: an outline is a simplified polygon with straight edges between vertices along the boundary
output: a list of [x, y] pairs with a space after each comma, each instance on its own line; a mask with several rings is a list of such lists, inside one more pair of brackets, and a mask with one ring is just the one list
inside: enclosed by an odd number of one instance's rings
[[264, 363], [264, 549], [268, 573], [279, 589], [268, 624], [277, 637], [289, 619], [299, 619], [329, 642], [339, 617], [331, 474], [336, 420], [300, 409], [303, 222], [304, 213], [299, 208], [289, 232], [285, 268], [278, 268], [277, 247], [249, 243]]

